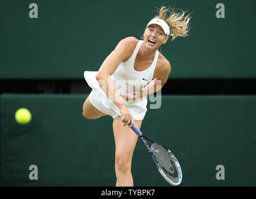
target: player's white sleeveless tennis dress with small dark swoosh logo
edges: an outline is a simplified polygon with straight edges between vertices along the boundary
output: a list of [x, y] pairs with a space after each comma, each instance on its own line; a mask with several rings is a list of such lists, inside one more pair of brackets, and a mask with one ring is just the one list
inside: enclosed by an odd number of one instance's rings
[[[140, 91], [143, 86], [147, 85], [149, 81], [153, 79], [154, 68], [158, 62], [158, 50], [156, 50], [154, 60], [149, 68], [141, 72], [138, 72], [134, 69], [135, 58], [138, 54], [138, 51], [140, 50], [142, 43], [143, 40], [139, 40], [133, 55], [131, 55], [131, 57], [126, 62], [121, 62], [113, 75], [111, 75], [111, 79], [115, 84], [115, 88], [120, 95], [122, 93], [131, 95], [133, 91]], [[97, 72], [84, 73], [85, 80], [87, 80], [88, 85], [92, 88], [92, 92], [90, 93], [90, 103], [92, 103], [93, 106], [95, 106], [95, 108], [100, 110], [102, 113], [108, 114], [112, 118], [121, 116], [118, 106], [116, 106], [116, 104], [113, 103], [110, 98], [108, 98], [108, 96], [98, 85], [95, 78], [96, 75]], [[130, 111], [131, 115], [133, 116], [133, 119], [143, 120], [147, 111], [147, 96], [137, 99], [136, 101], [126, 101], [125, 99], [123, 99], [123, 101], [128, 108], [128, 111]]]

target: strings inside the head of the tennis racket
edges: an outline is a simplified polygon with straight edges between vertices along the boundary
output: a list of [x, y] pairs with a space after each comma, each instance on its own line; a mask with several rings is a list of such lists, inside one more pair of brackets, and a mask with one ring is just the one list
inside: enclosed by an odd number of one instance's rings
[[168, 152], [163, 146], [154, 144], [153, 146], [154, 156], [158, 161], [159, 167], [163, 170], [166, 177], [172, 180], [174, 183], [179, 182], [179, 170], [176, 166], [174, 157], [171, 152]]

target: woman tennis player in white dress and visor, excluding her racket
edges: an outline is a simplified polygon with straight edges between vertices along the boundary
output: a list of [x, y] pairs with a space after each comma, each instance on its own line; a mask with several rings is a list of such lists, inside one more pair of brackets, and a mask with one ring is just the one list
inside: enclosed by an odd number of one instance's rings
[[95, 75], [91, 78], [96, 78], [100, 89], [93, 89], [85, 99], [83, 117], [113, 118], [116, 186], [133, 186], [131, 159], [138, 136], [130, 127], [136, 124], [140, 129], [147, 111], [147, 95], [161, 89], [171, 73], [171, 64], [158, 49], [169, 36], [171, 40], [186, 37], [190, 19], [184, 11], [161, 7], [158, 16], [146, 25], [143, 40], [135, 37], [121, 40], [98, 72], [92, 73]]

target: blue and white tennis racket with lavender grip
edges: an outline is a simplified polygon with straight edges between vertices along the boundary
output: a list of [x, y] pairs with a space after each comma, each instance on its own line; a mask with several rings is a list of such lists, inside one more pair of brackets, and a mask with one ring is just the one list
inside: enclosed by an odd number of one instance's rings
[[145, 144], [149, 154], [151, 154], [153, 157], [159, 173], [164, 177], [164, 179], [171, 185], [179, 185], [183, 178], [181, 166], [171, 150], [163, 146], [163, 144], [151, 141], [151, 139], [145, 137], [140, 129], [135, 126], [135, 124], [131, 127], [131, 129], [133, 129], [133, 131]]

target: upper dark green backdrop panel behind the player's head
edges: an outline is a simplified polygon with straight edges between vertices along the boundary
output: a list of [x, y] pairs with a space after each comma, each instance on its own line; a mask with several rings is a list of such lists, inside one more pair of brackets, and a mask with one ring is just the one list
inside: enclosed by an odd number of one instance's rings
[[189, 37], [161, 48], [172, 65], [170, 78], [255, 78], [255, 1], [225, 0], [217, 19], [217, 0], [0, 2], [0, 78], [83, 78], [98, 70], [118, 42], [140, 39], [154, 7], [192, 12]]

